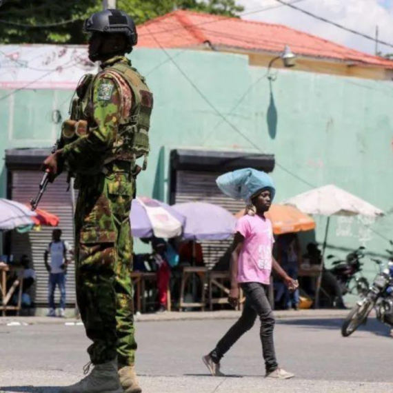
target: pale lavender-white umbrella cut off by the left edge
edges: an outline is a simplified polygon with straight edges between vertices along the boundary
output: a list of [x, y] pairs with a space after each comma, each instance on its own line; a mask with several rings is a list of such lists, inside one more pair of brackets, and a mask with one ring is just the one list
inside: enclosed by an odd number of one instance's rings
[[34, 225], [32, 212], [22, 203], [0, 198], [0, 230], [12, 230], [23, 225]]

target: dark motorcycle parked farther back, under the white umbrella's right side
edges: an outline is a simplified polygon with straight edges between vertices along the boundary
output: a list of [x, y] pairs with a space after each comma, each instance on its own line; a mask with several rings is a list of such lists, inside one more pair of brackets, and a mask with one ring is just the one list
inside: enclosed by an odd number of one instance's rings
[[[341, 290], [341, 295], [345, 294], [359, 294], [360, 296], [365, 296], [367, 294], [370, 284], [367, 279], [361, 274], [365, 248], [359, 247], [357, 250], [347, 254], [345, 260], [336, 260], [332, 262], [332, 268], [326, 269], [325, 274], [332, 274], [334, 279], [336, 279], [339, 289]], [[327, 259], [334, 258], [334, 255], [328, 255]], [[324, 281], [324, 280], [323, 280]], [[325, 280], [328, 281], [328, 280]], [[331, 281], [331, 280], [330, 280]], [[326, 288], [324, 288], [324, 286]], [[336, 289], [334, 285], [322, 284], [322, 289], [328, 294], [331, 299], [337, 296]]]

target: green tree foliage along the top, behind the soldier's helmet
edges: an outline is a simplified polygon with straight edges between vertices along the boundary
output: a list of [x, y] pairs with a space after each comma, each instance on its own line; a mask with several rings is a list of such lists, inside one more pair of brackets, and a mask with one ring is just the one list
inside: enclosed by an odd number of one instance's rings
[[[173, 10], [239, 16], [235, 0], [117, 0], [117, 8], [140, 24]], [[102, 9], [101, 0], [9, 0], [0, 3], [0, 43], [85, 43], [83, 20]]]

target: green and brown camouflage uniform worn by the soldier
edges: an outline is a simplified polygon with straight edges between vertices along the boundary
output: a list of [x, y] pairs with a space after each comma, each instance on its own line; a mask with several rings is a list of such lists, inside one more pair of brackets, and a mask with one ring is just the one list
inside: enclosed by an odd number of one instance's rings
[[[81, 94], [82, 110], [72, 117], [85, 120], [88, 128], [77, 138], [63, 137], [62, 157], [77, 174], [79, 188], [74, 217], [77, 302], [86, 334], [93, 341], [88, 348], [90, 359], [101, 364], [117, 355], [119, 363], [133, 365], [137, 343], [129, 214], [135, 192], [135, 159], [143, 154], [127, 150], [130, 133], [121, 132], [134, 114], [132, 106], [139, 92], [111, 70], [116, 66], [127, 70], [130, 62], [125, 57], [106, 61], [103, 71]], [[134, 71], [132, 75], [138, 83], [139, 74]], [[145, 86], [143, 79], [141, 83]], [[152, 96], [148, 104], [150, 119]], [[135, 124], [133, 127], [136, 130]]]

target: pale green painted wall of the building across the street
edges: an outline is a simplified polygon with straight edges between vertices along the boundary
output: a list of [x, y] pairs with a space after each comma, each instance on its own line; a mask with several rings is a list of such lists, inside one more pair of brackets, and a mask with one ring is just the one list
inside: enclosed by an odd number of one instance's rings
[[[276, 78], [270, 81], [265, 68], [250, 67], [242, 55], [190, 50], [168, 54], [237, 130], [163, 50], [135, 50], [134, 65], [154, 92], [152, 153], [148, 171], [139, 179], [139, 194], [166, 199], [168, 154], [171, 148], [187, 146], [275, 154], [276, 201], [310, 185], [335, 183], [385, 212], [392, 210], [393, 83], [296, 70], [274, 70]], [[0, 99], [8, 92], [0, 91]], [[66, 90], [23, 90], [0, 101], [1, 194], [6, 184], [3, 149], [51, 145], [59, 132], [51, 121], [52, 110], [61, 110], [66, 118], [71, 95]], [[316, 240], [323, 241], [325, 218], [316, 217], [316, 222]], [[328, 243], [335, 253], [340, 252], [336, 248], [361, 243], [370, 252], [383, 253], [388, 244], [373, 231], [393, 238], [392, 223], [389, 214], [371, 230], [356, 217], [333, 219]], [[368, 274], [372, 272], [369, 268]]]

